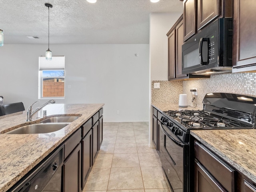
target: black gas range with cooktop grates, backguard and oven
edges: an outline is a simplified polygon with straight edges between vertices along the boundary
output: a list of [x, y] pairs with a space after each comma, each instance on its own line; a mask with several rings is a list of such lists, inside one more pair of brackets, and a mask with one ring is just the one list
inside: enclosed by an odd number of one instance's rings
[[188, 192], [190, 130], [255, 128], [256, 98], [208, 93], [203, 99], [203, 110], [168, 110], [162, 114], [159, 132], [162, 168], [173, 192]]

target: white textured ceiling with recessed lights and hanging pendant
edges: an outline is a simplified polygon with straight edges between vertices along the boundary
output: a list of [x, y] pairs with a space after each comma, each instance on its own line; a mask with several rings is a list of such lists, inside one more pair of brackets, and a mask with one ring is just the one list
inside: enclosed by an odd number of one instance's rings
[[[153, 12], [180, 12], [179, 0], [0, 0], [5, 44], [148, 44]], [[30, 39], [26, 36], [38, 36]]]

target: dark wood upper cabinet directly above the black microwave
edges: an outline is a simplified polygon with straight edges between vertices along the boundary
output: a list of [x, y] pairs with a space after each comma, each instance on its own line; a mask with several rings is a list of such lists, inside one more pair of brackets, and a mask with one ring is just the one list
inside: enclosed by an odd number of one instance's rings
[[185, 0], [184, 41], [217, 18], [232, 17], [232, 0]]

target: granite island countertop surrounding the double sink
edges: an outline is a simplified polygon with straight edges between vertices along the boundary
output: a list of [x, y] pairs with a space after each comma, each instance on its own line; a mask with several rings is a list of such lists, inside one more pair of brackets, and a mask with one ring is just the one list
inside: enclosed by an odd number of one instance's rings
[[104, 104], [51, 104], [45, 106], [47, 116], [80, 116], [65, 128], [56, 132], [55, 137], [45, 134], [4, 134], [20, 124], [33, 124], [44, 118], [42, 110], [33, 122], [26, 122], [26, 111], [15, 116], [0, 119], [0, 192], [5, 192], [52, 150], [75, 132], [84, 122], [94, 115]]

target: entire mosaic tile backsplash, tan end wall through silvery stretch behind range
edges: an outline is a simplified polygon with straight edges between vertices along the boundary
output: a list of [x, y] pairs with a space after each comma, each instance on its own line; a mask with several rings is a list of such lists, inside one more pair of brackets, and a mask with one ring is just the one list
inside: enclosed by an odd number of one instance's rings
[[[160, 82], [160, 89], [154, 89], [154, 82]], [[245, 94], [256, 97], [256, 73], [227, 73], [212, 75], [210, 78], [187, 81], [152, 81], [152, 102], [178, 104], [179, 94], [188, 95], [192, 105], [190, 89], [197, 88], [197, 106], [203, 108], [206, 93], [224, 92]]]

